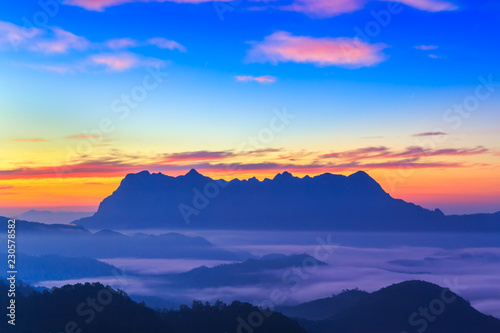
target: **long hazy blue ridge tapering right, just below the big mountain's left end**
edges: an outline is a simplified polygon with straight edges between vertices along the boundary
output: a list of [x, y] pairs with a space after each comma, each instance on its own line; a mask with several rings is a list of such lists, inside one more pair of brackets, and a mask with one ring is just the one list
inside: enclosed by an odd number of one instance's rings
[[[7, 218], [0, 217], [0, 253], [7, 251]], [[3, 236], [2, 236], [3, 234]], [[16, 220], [18, 251], [29, 255], [59, 255], [90, 258], [164, 258], [241, 261], [253, 256], [231, 252], [202, 237], [179, 233], [125, 235], [111, 230], [92, 233], [81, 226], [43, 224]], [[3, 246], [2, 244], [5, 244]]]

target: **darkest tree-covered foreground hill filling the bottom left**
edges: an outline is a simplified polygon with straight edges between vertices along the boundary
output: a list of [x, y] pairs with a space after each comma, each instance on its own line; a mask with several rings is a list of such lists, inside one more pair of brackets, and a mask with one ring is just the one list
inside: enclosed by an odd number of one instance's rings
[[[6, 309], [8, 287], [0, 283], [0, 306]], [[0, 321], [1, 332], [126, 332], [126, 333], [306, 333], [294, 320], [279, 313], [255, 324], [268, 313], [248, 303], [214, 305], [193, 302], [192, 307], [156, 312], [122, 291], [100, 283], [66, 285], [29, 296], [16, 295], [16, 326]], [[250, 319], [249, 319], [250, 318]], [[254, 321], [252, 321], [254, 320]]]

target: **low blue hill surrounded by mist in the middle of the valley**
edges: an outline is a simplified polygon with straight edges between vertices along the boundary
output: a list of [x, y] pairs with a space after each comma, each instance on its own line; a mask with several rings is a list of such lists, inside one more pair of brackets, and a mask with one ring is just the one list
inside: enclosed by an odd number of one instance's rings
[[[288, 269], [308, 266], [325, 266], [326, 263], [307, 254], [292, 254], [277, 258], [249, 259], [242, 263], [223, 264], [215, 267], [198, 267], [188, 272], [165, 275], [169, 287], [209, 288], [244, 285], [295, 284], [296, 275], [283, 273]], [[282, 273], [282, 274], [277, 274]]]

